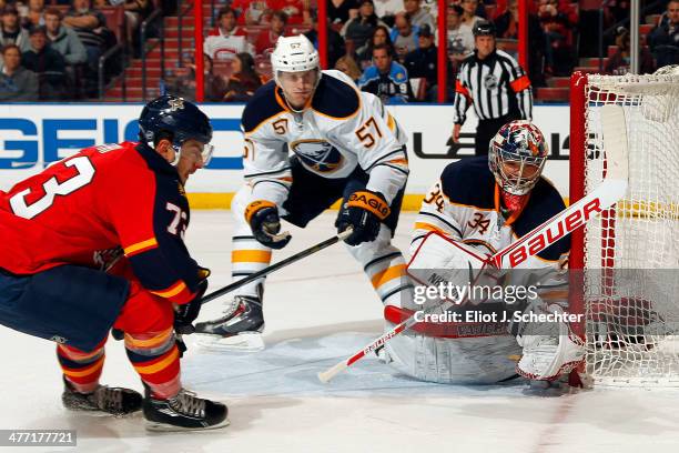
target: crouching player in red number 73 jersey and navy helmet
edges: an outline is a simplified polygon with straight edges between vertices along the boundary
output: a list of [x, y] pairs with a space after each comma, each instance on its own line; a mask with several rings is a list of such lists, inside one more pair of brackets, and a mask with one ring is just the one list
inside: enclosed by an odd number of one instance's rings
[[[84, 149], [0, 192], [0, 323], [58, 343], [68, 409], [143, 409], [151, 430], [223, 426], [225, 405], [182, 389], [174, 335], [207, 288], [183, 242], [184, 183], [210, 159], [212, 127], [170, 95], [139, 124], [139, 143]], [[99, 384], [111, 328], [144, 397]]]

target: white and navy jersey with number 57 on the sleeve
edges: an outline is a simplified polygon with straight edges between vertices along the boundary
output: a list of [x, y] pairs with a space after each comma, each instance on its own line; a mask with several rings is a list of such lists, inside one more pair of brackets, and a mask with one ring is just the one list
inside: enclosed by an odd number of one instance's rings
[[378, 98], [358, 91], [340, 71], [323, 71], [303, 112], [294, 112], [272, 81], [243, 111], [245, 180], [253, 199], [281, 205], [292, 184], [290, 155], [323, 178], [346, 178], [361, 167], [367, 189], [391, 203], [405, 187], [406, 138]]

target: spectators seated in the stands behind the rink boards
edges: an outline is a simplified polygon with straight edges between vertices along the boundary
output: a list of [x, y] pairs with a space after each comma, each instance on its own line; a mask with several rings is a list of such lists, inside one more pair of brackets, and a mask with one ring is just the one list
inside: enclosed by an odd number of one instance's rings
[[[45, 1], [49, 4], [45, 4]], [[434, 0], [215, 0], [214, 27], [203, 43], [209, 101], [245, 101], [271, 79], [268, 57], [281, 36], [303, 32], [317, 46], [315, 3], [327, 2], [328, 67], [345, 72], [361, 89], [387, 103], [437, 99], [437, 17]], [[452, 100], [462, 61], [474, 52], [473, 27], [490, 20], [497, 44], [516, 54], [518, 0], [446, 0], [447, 92]], [[122, 33], [107, 28], [105, 8], [123, 8]], [[547, 78], [567, 77], [579, 58], [599, 54], [604, 36], [606, 73], [629, 71], [628, 0], [528, 0], [527, 71], [534, 87]], [[604, 7], [601, 7], [604, 6]], [[60, 100], [92, 95], [101, 56], [125, 41], [138, 56], [139, 28], [163, 0], [0, 0], [0, 100]], [[679, 0], [661, 6], [663, 13], [641, 43], [641, 72], [679, 62]], [[645, 13], [648, 13], [646, 11]], [[650, 11], [650, 12], [662, 12]], [[608, 56], [607, 46], [616, 51]], [[192, 98], [195, 66], [180, 56], [166, 78], [169, 89]], [[116, 71], [109, 70], [107, 79]]]

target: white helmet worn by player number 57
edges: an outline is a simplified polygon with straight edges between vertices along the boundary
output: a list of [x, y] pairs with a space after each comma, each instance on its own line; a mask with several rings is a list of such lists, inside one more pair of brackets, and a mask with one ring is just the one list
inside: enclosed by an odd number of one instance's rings
[[304, 36], [281, 37], [271, 54], [271, 67], [274, 79], [278, 82], [278, 72], [303, 72], [315, 69], [321, 80], [321, 59], [314, 44]]

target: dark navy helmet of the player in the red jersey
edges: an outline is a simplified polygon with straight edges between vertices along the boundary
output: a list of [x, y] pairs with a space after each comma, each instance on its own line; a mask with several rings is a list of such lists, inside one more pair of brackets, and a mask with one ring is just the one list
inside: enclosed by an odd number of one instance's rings
[[172, 138], [172, 148], [175, 150], [175, 161], [179, 162], [182, 144], [190, 139], [203, 143], [203, 164], [206, 165], [212, 157], [212, 125], [207, 115], [193, 102], [171, 94], [161, 95], [149, 102], [139, 117], [139, 137], [151, 148], [161, 134]]

